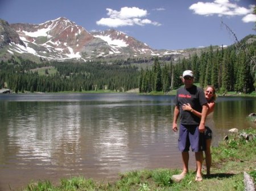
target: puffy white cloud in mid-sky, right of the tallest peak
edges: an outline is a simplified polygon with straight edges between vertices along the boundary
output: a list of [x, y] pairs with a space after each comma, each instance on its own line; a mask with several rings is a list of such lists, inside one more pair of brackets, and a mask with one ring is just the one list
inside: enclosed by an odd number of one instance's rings
[[146, 17], [147, 10], [139, 9], [138, 7], [122, 7], [120, 11], [106, 9], [109, 18], [101, 18], [96, 22], [98, 25], [108, 27], [122, 27], [122, 26], [144, 26], [145, 24], [152, 24], [154, 26], [160, 26], [158, 22], [152, 22], [149, 19], [141, 19]]

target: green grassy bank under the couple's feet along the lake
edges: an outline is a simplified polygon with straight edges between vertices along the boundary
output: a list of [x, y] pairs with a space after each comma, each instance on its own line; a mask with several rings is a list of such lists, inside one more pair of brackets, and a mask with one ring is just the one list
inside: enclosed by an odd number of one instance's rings
[[[180, 173], [180, 169], [143, 169], [121, 174], [114, 182], [71, 177], [61, 179], [58, 185], [53, 185], [50, 181], [33, 182], [22, 190], [245, 190], [243, 172], [249, 173], [256, 182], [256, 129], [251, 128], [228, 136], [228, 140], [212, 148], [211, 175], [204, 176], [202, 182], [195, 181], [194, 172], [189, 172], [181, 182], [173, 182], [171, 176]], [[205, 170], [203, 173], [205, 174]]]

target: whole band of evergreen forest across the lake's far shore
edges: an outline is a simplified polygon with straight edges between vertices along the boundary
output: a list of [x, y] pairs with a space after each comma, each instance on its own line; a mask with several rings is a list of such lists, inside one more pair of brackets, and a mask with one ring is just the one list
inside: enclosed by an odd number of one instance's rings
[[[181, 58], [160, 62], [154, 57], [152, 67], [139, 70], [131, 66], [132, 59], [117, 60], [112, 64], [102, 62], [40, 62], [12, 57], [0, 62], [0, 88], [7, 84], [13, 92], [59, 92], [59, 91], [90, 91], [112, 90], [127, 91], [139, 88], [139, 92], [168, 92], [182, 82], [180, 75], [184, 70], [193, 70], [195, 82], [201, 87], [212, 84], [218, 92], [236, 91], [250, 93], [255, 91], [256, 41], [246, 44], [246, 40], [255, 35], [247, 36], [239, 46], [234, 44], [228, 48], [201, 51], [188, 59]], [[161, 60], [163, 61], [163, 60]], [[143, 60], [143, 62], [147, 62]], [[139, 63], [137, 63], [139, 64]], [[42, 67], [53, 67], [56, 73], [44, 75], [37, 70]]]

